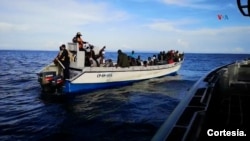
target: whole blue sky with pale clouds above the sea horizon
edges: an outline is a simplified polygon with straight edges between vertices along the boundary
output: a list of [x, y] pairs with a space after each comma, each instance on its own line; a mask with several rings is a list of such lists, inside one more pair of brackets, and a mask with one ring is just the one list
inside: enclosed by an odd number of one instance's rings
[[236, 0], [0, 1], [0, 50], [58, 50], [77, 32], [107, 51], [250, 53]]

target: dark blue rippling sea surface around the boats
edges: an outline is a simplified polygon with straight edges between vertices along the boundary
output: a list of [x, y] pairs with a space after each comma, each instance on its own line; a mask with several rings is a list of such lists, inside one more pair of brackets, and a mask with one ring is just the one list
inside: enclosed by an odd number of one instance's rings
[[[137, 53], [143, 59], [156, 53]], [[211, 69], [247, 54], [185, 54], [176, 76], [75, 97], [41, 92], [36, 73], [56, 51], [0, 50], [1, 141], [149, 141], [187, 90]], [[116, 53], [106, 52], [116, 60]]]

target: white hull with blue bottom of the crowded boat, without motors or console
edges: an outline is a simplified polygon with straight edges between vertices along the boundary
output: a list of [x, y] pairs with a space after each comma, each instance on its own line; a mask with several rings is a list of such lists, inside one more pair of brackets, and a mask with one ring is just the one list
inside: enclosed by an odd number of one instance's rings
[[64, 93], [85, 93], [97, 89], [114, 88], [151, 78], [174, 75], [181, 62], [157, 66], [132, 66], [129, 68], [93, 67], [82, 72], [71, 70], [72, 79], [66, 80]]

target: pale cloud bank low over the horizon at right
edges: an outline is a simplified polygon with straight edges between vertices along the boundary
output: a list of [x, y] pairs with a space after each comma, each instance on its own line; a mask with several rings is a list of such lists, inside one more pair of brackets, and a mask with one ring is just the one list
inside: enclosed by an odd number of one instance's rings
[[[184, 52], [241, 53], [248, 48], [250, 26], [225, 26], [188, 28], [197, 20], [180, 19], [175, 21], [158, 20], [148, 24], [153, 31], [161, 31], [165, 44]], [[236, 48], [237, 46], [237, 48]]]

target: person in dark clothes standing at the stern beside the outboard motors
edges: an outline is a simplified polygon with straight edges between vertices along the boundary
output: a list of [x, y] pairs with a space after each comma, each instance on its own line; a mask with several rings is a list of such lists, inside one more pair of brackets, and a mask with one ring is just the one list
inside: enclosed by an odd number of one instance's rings
[[65, 44], [61, 46], [62, 54], [58, 57], [58, 60], [62, 63], [63, 69], [63, 77], [64, 79], [69, 79], [69, 54], [68, 50], [66, 49]]

